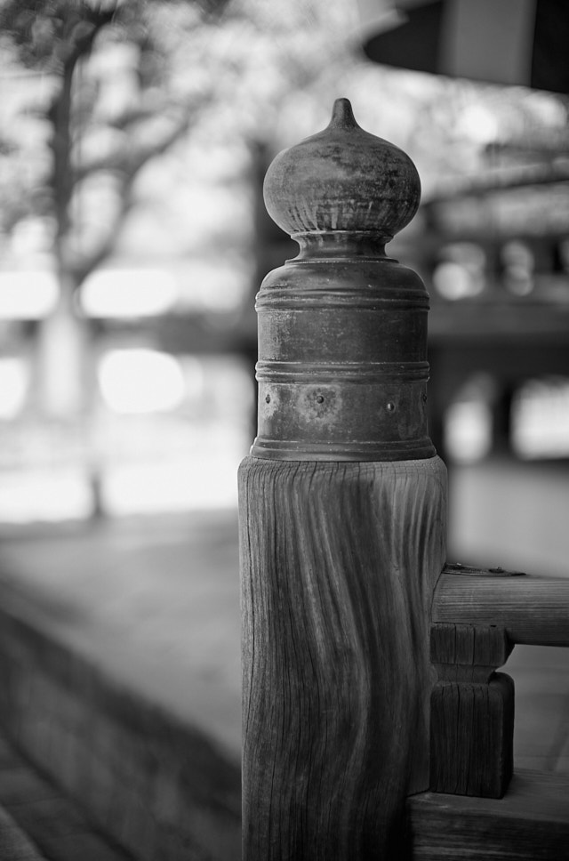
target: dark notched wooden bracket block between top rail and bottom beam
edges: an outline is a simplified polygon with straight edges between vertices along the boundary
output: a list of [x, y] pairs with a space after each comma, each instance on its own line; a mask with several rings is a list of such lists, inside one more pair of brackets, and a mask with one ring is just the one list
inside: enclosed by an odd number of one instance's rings
[[514, 683], [505, 673], [513, 648], [497, 625], [433, 624], [437, 684], [430, 708], [430, 788], [501, 798], [513, 770]]

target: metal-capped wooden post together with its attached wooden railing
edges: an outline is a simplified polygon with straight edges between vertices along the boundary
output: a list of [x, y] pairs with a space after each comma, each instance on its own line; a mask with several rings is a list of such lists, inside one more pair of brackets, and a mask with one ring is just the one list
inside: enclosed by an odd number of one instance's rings
[[428, 296], [384, 251], [419, 196], [347, 100], [265, 181], [301, 253], [257, 297], [259, 432], [239, 475], [244, 861], [568, 857], [566, 786], [542, 782], [534, 805], [554, 854], [517, 777], [500, 801], [514, 691], [496, 670], [517, 642], [569, 642], [569, 582], [445, 566]]

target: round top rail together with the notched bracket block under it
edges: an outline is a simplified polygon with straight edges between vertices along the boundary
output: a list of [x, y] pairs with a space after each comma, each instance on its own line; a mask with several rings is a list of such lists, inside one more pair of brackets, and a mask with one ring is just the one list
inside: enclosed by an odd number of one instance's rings
[[[430, 788], [501, 798], [512, 776], [517, 643], [569, 645], [569, 580], [447, 565], [431, 611]], [[568, 811], [569, 812], [569, 811]]]

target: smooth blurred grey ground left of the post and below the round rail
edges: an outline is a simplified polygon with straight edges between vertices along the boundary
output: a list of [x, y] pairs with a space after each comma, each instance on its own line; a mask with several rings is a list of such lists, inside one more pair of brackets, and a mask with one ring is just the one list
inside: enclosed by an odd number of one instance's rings
[[[236, 511], [0, 533], [0, 600], [240, 751]], [[569, 773], [569, 649], [517, 647], [516, 763]]]

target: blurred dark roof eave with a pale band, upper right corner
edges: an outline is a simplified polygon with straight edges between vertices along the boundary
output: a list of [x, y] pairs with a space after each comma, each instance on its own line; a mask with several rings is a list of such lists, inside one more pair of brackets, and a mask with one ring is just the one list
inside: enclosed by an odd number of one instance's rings
[[569, 93], [565, 0], [357, 0], [366, 56], [398, 68]]

